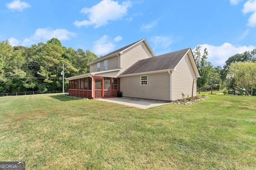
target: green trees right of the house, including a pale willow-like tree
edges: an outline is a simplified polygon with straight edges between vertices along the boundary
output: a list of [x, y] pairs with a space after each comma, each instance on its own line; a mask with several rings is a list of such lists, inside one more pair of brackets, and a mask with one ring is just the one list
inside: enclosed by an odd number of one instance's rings
[[221, 66], [213, 67], [207, 61], [207, 48], [203, 53], [200, 48], [198, 45], [193, 51], [201, 76], [197, 79], [199, 92], [202, 89], [226, 88], [232, 94], [241, 94], [244, 89], [246, 95], [256, 96], [256, 49], [229, 57], [222, 68]]

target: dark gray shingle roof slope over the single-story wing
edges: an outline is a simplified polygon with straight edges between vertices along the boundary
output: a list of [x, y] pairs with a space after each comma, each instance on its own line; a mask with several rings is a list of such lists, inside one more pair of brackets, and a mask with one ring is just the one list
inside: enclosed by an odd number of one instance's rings
[[189, 49], [190, 48], [151, 57], [149, 59], [139, 60], [120, 75], [174, 69]]

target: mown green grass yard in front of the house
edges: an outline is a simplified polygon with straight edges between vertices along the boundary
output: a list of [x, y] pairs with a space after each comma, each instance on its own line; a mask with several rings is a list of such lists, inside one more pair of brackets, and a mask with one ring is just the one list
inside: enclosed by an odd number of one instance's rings
[[26, 169], [256, 169], [256, 97], [149, 109], [61, 94], [0, 97], [0, 161]]

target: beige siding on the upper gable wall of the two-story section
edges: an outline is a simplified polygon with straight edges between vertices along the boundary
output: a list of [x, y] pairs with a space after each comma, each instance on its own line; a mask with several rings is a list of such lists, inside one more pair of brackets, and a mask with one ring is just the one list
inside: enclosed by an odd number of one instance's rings
[[128, 50], [124, 51], [123, 54], [121, 54], [120, 67], [122, 70], [120, 73], [124, 72], [124, 70], [139, 60], [153, 57], [145, 43], [144, 48], [142, 48], [142, 43], [144, 42], [142, 41], [141, 43], [138, 43], [134, 47], [129, 48]]

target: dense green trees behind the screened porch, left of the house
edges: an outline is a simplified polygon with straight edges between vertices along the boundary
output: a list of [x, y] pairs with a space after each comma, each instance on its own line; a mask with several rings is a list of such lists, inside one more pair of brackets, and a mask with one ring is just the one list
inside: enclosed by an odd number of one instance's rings
[[61, 91], [63, 64], [65, 77], [76, 76], [88, 73], [87, 64], [97, 58], [89, 50], [66, 48], [56, 38], [31, 47], [0, 41], [0, 93]]

